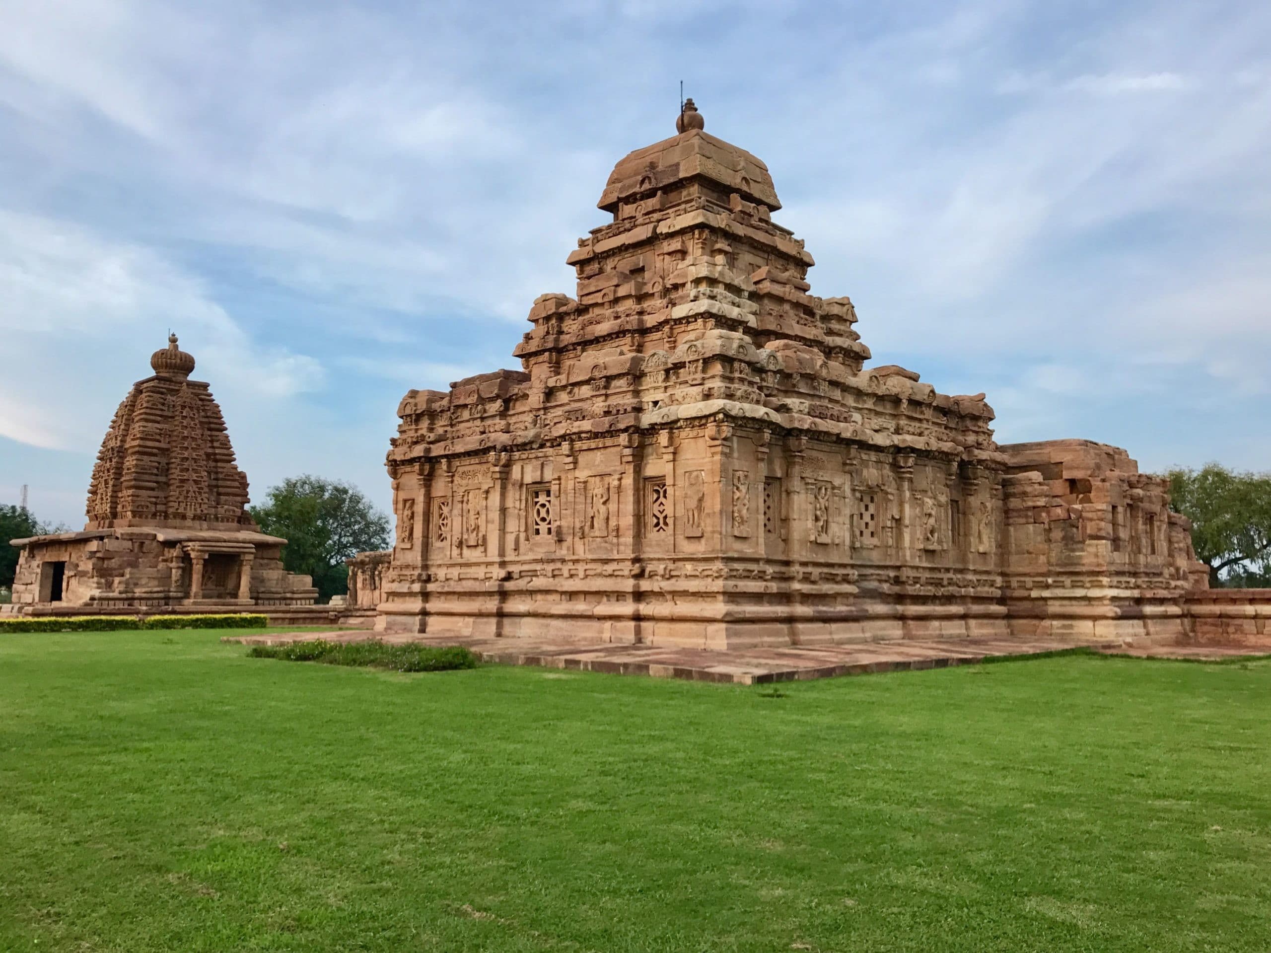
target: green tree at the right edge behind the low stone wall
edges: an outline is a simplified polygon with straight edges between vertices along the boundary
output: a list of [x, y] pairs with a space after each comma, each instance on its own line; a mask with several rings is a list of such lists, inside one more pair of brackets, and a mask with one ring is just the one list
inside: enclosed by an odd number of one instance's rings
[[1192, 522], [1210, 586], [1257, 586], [1271, 574], [1271, 473], [1218, 464], [1171, 470], [1169, 506]]

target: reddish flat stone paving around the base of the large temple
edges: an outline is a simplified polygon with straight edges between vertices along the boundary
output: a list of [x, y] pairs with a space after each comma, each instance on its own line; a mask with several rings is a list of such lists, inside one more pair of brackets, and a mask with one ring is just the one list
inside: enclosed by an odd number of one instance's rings
[[[614, 675], [647, 675], [656, 679], [758, 685], [777, 681], [827, 679], [867, 672], [895, 672], [974, 665], [985, 658], [1036, 656], [1078, 648], [1059, 639], [906, 639], [862, 642], [844, 645], [789, 645], [746, 648], [727, 652], [657, 645], [580, 644], [563, 639], [464, 639], [427, 635], [385, 635], [367, 632], [264, 633], [226, 635], [222, 642], [245, 645], [278, 645], [323, 638], [358, 642], [383, 638], [390, 643], [464, 645], [482, 661], [501, 665], [540, 666]], [[1120, 648], [1120, 643], [1094, 648]]]

